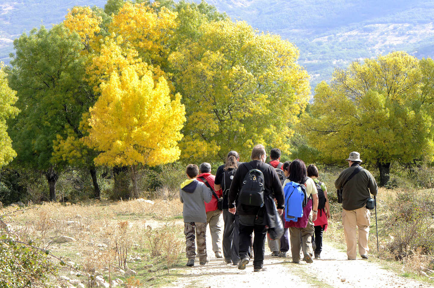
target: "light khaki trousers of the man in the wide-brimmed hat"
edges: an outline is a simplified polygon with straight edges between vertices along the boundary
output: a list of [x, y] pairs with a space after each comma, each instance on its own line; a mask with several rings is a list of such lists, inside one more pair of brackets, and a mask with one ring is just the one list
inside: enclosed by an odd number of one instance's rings
[[352, 211], [342, 209], [342, 226], [344, 226], [345, 241], [347, 242], [348, 259], [356, 258], [356, 227], [358, 228], [358, 252], [368, 256], [369, 225], [371, 224], [371, 211], [362, 207]]

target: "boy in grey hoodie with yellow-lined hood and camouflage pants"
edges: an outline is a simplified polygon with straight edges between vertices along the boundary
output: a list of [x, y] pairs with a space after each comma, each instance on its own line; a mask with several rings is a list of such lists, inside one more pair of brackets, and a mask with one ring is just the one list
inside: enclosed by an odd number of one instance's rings
[[199, 264], [205, 265], [207, 262], [207, 242], [205, 232], [207, 229], [207, 213], [205, 203], [211, 201], [211, 190], [202, 182], [197, 181], [199, 168], [197, 165], [188, 164], [185, 169], [188, 180], [181, 184], [179, 198], [184, 203], [182, 215], [184, 217], [184, 234], [187, 252], [187, 266], [194, 266], [196, 248], [194, 246], [194, 230], [196, 230], [197, 254]]

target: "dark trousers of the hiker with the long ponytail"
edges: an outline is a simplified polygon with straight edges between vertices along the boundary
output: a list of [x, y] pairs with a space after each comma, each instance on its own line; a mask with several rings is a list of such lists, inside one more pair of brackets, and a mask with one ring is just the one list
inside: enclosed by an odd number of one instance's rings
[[233, 263], [240, 262], [238, 245], [238, 226], [240, 225], [238, 215], [233, 215], [227, 209], [223, 209], [223, 255], [225, 260], [232, 260]]

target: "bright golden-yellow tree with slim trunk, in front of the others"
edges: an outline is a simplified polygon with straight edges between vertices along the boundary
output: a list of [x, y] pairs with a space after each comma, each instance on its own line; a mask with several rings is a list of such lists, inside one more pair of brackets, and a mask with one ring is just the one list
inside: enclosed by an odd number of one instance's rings
[[139, 77], [135, 68], [113, 71], [101, 84], [101, 95], [89, 109], [85, 143], [100, 151], [95, 164], [129, 166], [138, 196], [137, 165], [167, 164], [179, 158], [185, 108], [181, 95], [171, 100], [164, 77], [155, 84], [152, 72]]

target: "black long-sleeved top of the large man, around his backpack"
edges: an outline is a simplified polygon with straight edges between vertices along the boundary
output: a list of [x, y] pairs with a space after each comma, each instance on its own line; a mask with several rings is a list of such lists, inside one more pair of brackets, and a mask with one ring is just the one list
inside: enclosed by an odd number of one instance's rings
[[[276, 170], [269, 164], [263, 163], [260, 160], [253, 160], [249, 162], [253, 169], [261, 170], [264, 174], [264, 195], [272, 195], [277, 200], [277, 209], [285, 208], [285, 195], [283, 193], [282, 183], [280, 182], [279, 175]], [[237, 172], [233, 175], [232, 184], [230, 185], [228, 204], [229, 208], [235, 206], [235, 200], [238, 198], [243, 180], [249, 169], [246, 164], [240, 164]], [[237, 212], [240, 215], [255, 215], [259, 207], [253, 208], [252, 206], [238, 204]]]

